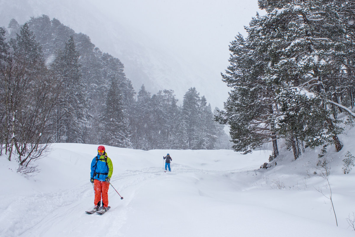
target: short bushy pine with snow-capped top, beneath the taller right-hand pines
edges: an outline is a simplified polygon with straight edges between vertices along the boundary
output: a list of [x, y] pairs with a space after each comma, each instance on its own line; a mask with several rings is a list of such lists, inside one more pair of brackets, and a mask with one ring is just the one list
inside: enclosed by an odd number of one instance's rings
[[279, 113], [271, 121], [275, 131], [293, 149], [295, 160], [301, 155], [303, 141], [314, 147], [329, 142], [327, 112], [320, 106], [322, 99], [299, 87], [282, 88], [276, 97]]

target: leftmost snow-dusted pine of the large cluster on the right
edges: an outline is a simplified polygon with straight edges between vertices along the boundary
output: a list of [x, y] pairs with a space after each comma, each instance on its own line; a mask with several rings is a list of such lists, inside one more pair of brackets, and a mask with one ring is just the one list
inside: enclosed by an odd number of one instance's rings
[[235, 151], [248, 153], [272, 142], [273, 157], [276, 157], [277, 135], [268, 119], [277, 111], [275, 88], [263, 80], [271, 56], [265, 53], [267, 46], [261, 45], [260, 36], [255, 34], [257, 22], [258, 19], [253, 18], [246, 28], [249, 33], [246, 39], [238, 34], [231, 42], [230, 66], [222, 76], [233, 90], [224, 104], [225, 111], [219, 111], [215, 120], [230, 126]]

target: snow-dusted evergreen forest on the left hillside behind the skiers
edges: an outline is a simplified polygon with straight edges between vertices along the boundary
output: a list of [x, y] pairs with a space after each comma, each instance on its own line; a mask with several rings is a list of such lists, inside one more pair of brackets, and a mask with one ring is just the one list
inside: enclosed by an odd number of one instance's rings
[[118, 58], [46, 15], [0, 27], [0, 153], [21, 166], [50, 143], [133, 149], [229, 149], [224, 125], [191, 87], [138, 92]]

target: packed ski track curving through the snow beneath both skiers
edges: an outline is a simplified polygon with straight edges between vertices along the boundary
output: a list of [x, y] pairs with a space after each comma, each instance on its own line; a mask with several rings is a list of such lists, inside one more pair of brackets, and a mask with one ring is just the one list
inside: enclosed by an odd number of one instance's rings
[[[164, 168], [150, 167], [141, 170], [126, 170], [126, 172], [116, 175], [111, 179], [113, 184], [120, 184], [119, 190], [125, 190], [128, 187], [135, 187], [136, 192], [141, 187], [144, 186], [146, 181], [154, 181], [158, 176], [163, 175], [176, 175], [176, 174], [186, 174], [186, 173], [203, 173], [203, 174], [230, 174], [236, 172], [245, 172], [248, 170], [253, 170], [258, 167], [249, 166], [241, 169], [234, 169], [229, 171], [218, 171], [218, 170], [208, 170], [208, 169], [197, 169], [187, 165], [180, 165], [178, 163], [173, 163], [171, 165], [172, 172], [164, 173]], [[116, 185], [115, 185], [116, 186]], [[115, 187], [116, 190], [118, 187]], [[120, 193], [120, 191], [118, 192]], [[15, 236], [56, 236], [56, 232], [60, 226], [66, 226], [66, 229], [60, 229], [57, 233], [60, 235], [73, 235], [75, 233], [78, 236], [103, 236], [101, 230], [108, 230], [105, 232], [106, 236], [116, 236], [117, 232], [120, 230], [125, 222], [125, 216], [127, 212], [130, 211], [130, 201], [135, 196], [135, 192], [129, 193], [128, 196], [124, 196], [124, 199], [119, 203], [118, 206], [111, 206], [111, 209], [105, 213], [103, 216], [97, 214], [85, 214], [85, 210], [89, 210], [93, 199], [93, 187], [87, 184], [87, 181], [82, 182], [81, 185], [77, 187], [64, 190], [61, 192], [50, 192], [50, 193], [36, 193], [32, 196], [21, 196], [15, 197], [15, 199], [9, 200], [9, 203], [2, 204], [6, 207], [5, 212], [18, 213], [12, 215], [11, 219], [7, 219], [5, 215], [0, 217], [0, 223], [7, 226], [7, 230], [3, 231], [4, 236], [15, 237]], [[201, 196], [208, 196], [199, 190]], [[109, 188], [109, 200], [117, 199], [118, 194], [116, 191], [110, 187]], [[5, 199], [5, 198], [4, 198]], [[5, 199], [6, 200], [6, 199]], [[92, 205], [93, 206], [93, 205]], [[23, 212], [27, 214], [26, 222], [23, 221]], [[72, 213], [77, 213], [77, 223], [66, 223], [66, 216]], [[119, 215], [116, 215], [119, 212]], [[99, 218], [99, 220], [98, 220]], [[107, 222], [107, 218], [113, 221], [115, 226], [111, 228], [110, 222]], [[82, 230], [80, 228], [81, 222], [92, 223], [91, 230]], [[95, 222], [100, 223], [100, 228], [96, 228]], [[24, 224], [25, 223], [25, 224]], [[87, 225], [83, 225], [87, 226]]]

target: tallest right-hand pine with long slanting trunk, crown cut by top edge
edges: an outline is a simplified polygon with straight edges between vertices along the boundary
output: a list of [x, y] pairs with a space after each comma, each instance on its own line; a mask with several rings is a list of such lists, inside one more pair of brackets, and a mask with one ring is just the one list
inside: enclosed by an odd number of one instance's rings
[[[339, 35], [343, 33], [343, 27], [339, 6], [332, 1], [317, 0], [261, 2], [269, 4], [264, 5], [268, 14], [258, 17], [260, 23], [255, 29], [263, 37], [262, 42], [265, 43], [262, 44], [268, 44], [268, 54], [274, 55], [266, 81], [286, 90], [299, 87], [321, 98], [318, 114], [324, 114], [320, 123], [324, 120], [326, 123], [317, 132], [313, 130], [315, 134], [311, 136], [323, 134], [332, 138], [339, 151], [342, 148], [337, 136], [340, 129], [334, 118], [329, 116], [329, 106], [326, 106], [327, 103], [334, 104], [327, 94], [327, 81], [340, 71], [337, 55], [341, 54]], [[273, 9], [281, 5], [282, 8]]]

